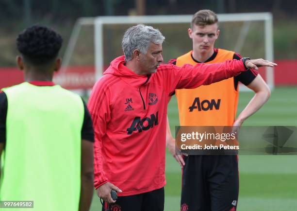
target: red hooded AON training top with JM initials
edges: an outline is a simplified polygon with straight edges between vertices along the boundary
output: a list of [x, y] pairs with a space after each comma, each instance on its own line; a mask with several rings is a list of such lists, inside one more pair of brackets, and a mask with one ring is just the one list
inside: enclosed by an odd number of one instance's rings
[[95, 131], [95, 188], [111, 182], [123, 193], [146, 193], [165, 186], [167, 104], [178, 88], [196, 88], [245, 71], [242, 61], [162, 64], [156, 73], [137, 75], [124, 56], [111, 62], [88, 103]]

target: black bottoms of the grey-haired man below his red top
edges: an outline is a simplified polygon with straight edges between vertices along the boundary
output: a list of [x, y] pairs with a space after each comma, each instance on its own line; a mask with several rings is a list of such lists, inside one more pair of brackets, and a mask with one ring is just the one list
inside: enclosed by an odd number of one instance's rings
[[103, 203], [102, 211], [106, 210], [164, 211], [164, 188], [137, 195], [119, 196], [115, 204], [107, 205], [105, 202]]

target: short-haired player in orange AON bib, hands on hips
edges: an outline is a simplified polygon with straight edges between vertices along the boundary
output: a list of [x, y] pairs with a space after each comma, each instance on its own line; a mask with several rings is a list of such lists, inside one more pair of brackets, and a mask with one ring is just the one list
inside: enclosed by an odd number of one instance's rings
[[[188, 35], [193, 50], [170, 63], [218, 63], [241, 59], [238, 53], [214, 48], [219, 36], [218, 19], [210, 10], [200, 10], [192, 18]], [[236, 119], [238, 83], [255, 92]], [[270, 90], [257, 70], [195, 89], [176, 89], [181, 126], [240, 126], [268, 100]], [[239, 176], [237, 156], [185, 156], [175, 153], [175, 140], [167, 124], [166, 143], [182, 167], [181, 211], [236, 211]]]

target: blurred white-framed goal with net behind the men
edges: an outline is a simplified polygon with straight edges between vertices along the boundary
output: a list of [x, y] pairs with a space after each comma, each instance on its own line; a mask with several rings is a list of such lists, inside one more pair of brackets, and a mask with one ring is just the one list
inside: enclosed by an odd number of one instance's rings
[[[54, 81], [70, 89], [91, 88], [110, 62], [123, 54], [122, 36], [130, 26], [138, 23], [158, 28], [165, 36], [164, 62], [177, 58], [192, 49], [187, 34], [191, 18], [191, 15], [79, 18], [66, 47], [61, 73]], [[218, 14], [218, 19], [220, 35], [215, 48], [273, 61], [270, 13]], [[273, 89], [273, 70], [262, 68], [260, 73]]]

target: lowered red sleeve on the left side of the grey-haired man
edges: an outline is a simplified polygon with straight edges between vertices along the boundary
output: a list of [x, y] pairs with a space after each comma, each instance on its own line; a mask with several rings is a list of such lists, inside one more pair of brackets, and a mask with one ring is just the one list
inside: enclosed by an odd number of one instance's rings
[[[102, 79], [102, 78], [101, 78]], [[107, 86], [99, 80], [90, 95], [88, 109], [93, 119], [95, 142], [94, 142], [94, 187], [108, 182], [103, 170], [104, 157], [102, 156], [102, 138], [106, 133], [106, 125], [110, 121], [110, 107]]]

